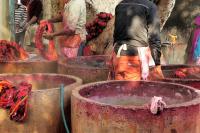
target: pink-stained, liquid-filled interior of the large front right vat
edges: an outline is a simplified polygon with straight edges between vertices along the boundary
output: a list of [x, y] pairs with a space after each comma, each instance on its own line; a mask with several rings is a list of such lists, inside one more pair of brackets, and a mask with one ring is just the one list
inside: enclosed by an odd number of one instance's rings
[[167, 105], [184, 103], [198, 95], [183, 86], [157, 82], [111, 82], [88, 86], [79, 91], [85, 98], [100, 103], [122, 106], [143, 106], [150, 103], [153, 96], [160, 96]]

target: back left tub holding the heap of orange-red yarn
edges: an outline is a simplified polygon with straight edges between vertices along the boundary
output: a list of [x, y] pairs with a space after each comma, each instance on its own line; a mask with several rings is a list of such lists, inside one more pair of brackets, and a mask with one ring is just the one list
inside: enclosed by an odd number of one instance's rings
[[24, 61], [0, 62], [0, 73], [57, 73], [57, 61], [32, 57]]

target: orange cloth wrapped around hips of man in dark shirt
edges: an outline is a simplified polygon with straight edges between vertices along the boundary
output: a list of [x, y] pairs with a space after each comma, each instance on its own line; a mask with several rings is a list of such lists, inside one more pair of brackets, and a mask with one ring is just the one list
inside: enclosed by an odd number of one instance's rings
[[141, 80], [141, 62], [138, 56], [120, 56], [114, 63], [115, 80]]

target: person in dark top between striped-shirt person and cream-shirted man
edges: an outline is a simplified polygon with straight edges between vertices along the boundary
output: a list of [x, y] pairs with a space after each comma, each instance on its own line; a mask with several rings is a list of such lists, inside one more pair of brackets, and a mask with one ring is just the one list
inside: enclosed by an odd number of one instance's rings
[[26, 46], [34, 46], [35, 32], [38, 27], [38, 22], [42, 17], [42, 2], [41, 0], [29, 0], [27, 3], [27, 24], [25, 25], [25, 39]]

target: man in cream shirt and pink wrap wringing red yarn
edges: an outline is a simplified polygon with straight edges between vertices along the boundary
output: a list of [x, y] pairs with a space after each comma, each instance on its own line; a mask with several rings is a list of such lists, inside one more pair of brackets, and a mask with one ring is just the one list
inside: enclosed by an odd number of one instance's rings
[[[65, 39], [74, 35], [79, 35], [81, 43], [86, 39], [86, 4], [85, 0], [65, 0], [64, 12], [56, 18], [47, 20], [48, 22], [63, 22], [64, 28], [50, 34], [44, 34], [47, 39], [53, 39], [56, 36], [63, 36], [61, 44], [65, 43]], [[61, 46], [62, 53], [66, 57], [76, 57], [79, 47], [70, 48]]]

